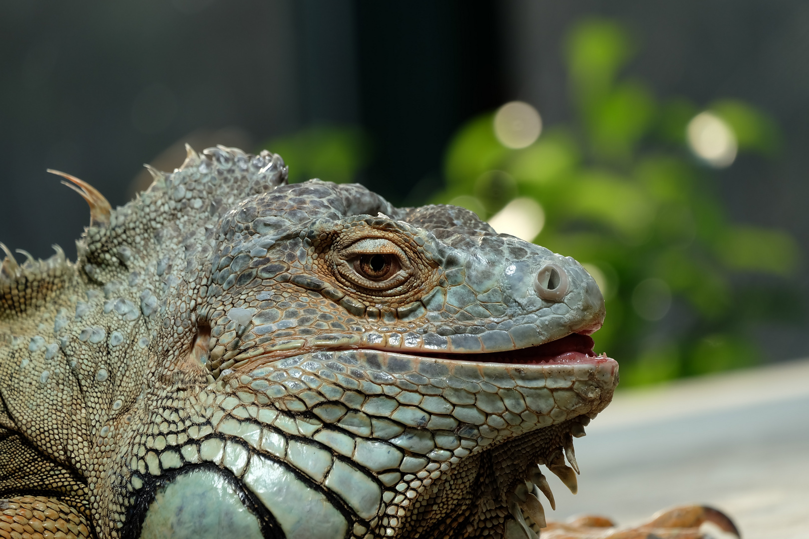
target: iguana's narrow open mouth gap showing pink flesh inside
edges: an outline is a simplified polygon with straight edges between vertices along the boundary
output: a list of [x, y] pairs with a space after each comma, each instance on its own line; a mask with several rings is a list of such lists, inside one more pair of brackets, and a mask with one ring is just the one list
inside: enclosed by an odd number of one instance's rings
[[[506, 352], [483, 352], [480, 354], [451, 354], [419, 352], [419, 356], [438, 357], [446, 360], [466, 360], [481, 363], [503, 364], [570, 364], [593, 363], [608, 360], [604, 354], [593, 352], [593, 339], [589, 335], [572, 333], [561, 339], [537, 346], [508, 350]], [[459, 357], [462, 356], [462, 357]]]

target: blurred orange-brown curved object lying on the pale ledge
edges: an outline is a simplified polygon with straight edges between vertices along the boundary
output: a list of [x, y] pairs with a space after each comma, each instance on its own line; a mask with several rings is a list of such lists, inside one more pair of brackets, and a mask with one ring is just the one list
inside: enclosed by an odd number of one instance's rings
[[713, 507], [688, 505], [659, 512], [635, 527], [619, 528], [603, 516], [549, 522], [542, 539], [724, 539], [740, 537], [735, 524]]

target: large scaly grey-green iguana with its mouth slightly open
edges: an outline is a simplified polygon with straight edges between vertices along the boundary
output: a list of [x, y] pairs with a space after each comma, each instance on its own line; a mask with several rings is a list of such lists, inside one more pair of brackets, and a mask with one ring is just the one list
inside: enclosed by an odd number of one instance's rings
[[574, 259], [266, 151], [151, 172], [115, 210], [57, 172], [75, 263], [2, 246], [0, 537], [528, 539], [539, 465], [576, 491], [618, 366]]

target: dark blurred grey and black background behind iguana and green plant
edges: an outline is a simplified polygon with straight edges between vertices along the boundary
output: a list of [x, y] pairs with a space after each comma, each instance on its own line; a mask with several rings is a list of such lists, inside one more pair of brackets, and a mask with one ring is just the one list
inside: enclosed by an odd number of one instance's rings
[[[746, 318], [722, 325], [678, 310], [670, 283], [671, 314], [621, 322], [633, 329], [613, 331], [610, 347], [654, 356], [659, 348], [637, 344], [643, 335], [670, 342], [690, 328], [695, 344], [680, 359], [660, 352], [685, 366], [652, 369], [639, 382], [699, 372], [687, 358], [726, 337], [755, 348], [756, 361], [806, 356], [809, 4], [798, 0], [2, 0], [0, 241], [41, 258], [58, 243], [74, 258], [87, 207], [45, 168], [86, 180], [114, 207], [148, 185], [142, 163], [179, 166], [184, 141], [269, 144], [299, 179], [332, 171], [322, 178], [361, 181], [395, 204], [464, 195], [445, 179], [448, 148], [469, 120], [519, 99], [539, 111], [543, 133], [574, 123], [565, 36], [593, 17], [631, 36], [621, 76], [695, 112], [742, 100], [777, 125], [767, 155], [740, 151], [732, 166], [694, 177], [722, 218], [780, 229], [800, 251], [790, 268], [728, 277], [735, 295], [726, 309], [743, 305]], [[624, 294], [613, 311], [632, 301], [637, 310], [643, 276], [605, 267]], [[731, 359], [717, 368], [735, 366], [738, 347], [722, 350]]]

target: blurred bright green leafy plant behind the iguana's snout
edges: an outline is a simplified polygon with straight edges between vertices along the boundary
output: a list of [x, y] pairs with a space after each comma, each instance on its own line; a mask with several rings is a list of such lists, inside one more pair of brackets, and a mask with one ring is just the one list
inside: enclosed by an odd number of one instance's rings
[[[782, 305], [751, 304], [788, 282], [800, 251], [786, 232], [728, 219], [711, 170], [686, 145], [701, 108], [625, 77], [634, 50], [616, 23], [576, 24], [565, 40], [576, 121], [523, 149], [498, 142], [493, 113], [469, 121], [432, 202], [488, 219], [515, 196], [538, 201], [546, 219], [535, 242], [584, 263], [604, 290], [596, 349], [621, 361], [624, 385], [755, 363], [750, 323]], [[740, 152], [777, 155], [780, 135], [765, 113], [731, 99], [707, 108]]]

